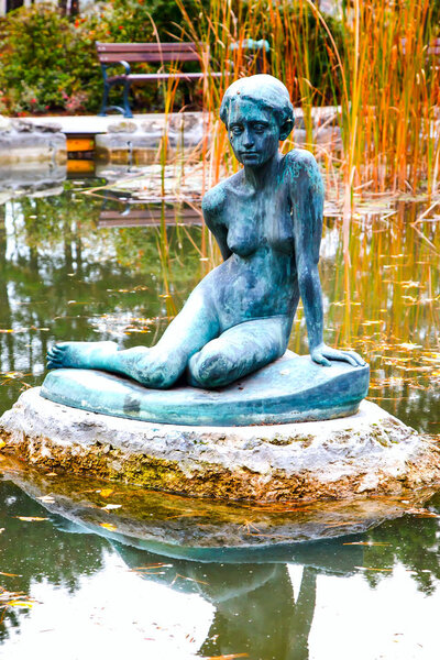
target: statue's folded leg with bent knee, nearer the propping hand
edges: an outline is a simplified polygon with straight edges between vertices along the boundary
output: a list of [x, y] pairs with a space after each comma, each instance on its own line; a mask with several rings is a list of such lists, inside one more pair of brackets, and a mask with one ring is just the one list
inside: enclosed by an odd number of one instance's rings
[[292, 321], [279, 316], [230, 328], [189, 360], [189, 383], [223, 387], [273, 362], [285, 353], [290, 327]]

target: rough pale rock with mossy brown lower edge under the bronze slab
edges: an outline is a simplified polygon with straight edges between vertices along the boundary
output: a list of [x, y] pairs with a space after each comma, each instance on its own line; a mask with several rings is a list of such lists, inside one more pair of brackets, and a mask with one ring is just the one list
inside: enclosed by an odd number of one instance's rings
[[188, 427], [68, 408], [32, 388], [0, 435], [31, 464], [213, 498], [342, 499], [440, 483], [440, 448], [369, 402], [321, 422]]

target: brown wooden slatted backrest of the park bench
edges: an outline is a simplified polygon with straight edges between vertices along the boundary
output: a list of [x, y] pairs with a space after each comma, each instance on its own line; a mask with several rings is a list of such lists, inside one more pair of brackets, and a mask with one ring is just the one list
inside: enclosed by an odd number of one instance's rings
[[198, 47], [194, 42], [185, 43], [150, 43], [150, 44], [107, 44], [96, 42], [98, 58], [101, 64], [112, 62], [201, 62], [205, 44]]

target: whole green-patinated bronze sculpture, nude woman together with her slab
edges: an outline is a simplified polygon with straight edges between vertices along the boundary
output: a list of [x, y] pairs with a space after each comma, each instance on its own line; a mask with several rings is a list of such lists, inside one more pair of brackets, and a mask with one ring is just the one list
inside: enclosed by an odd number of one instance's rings
[[[46, 378], [47, 398], [148, 421], [242, 426], [350, 415], [366, 395], [364, 361], [323, 342], [318, 273], [323, 185], [310, 152], [279, 152], [279, 141], [294, 127], [287, 88], [267, 75], [237, 80], [224, 94], [220, 118], [243, 165], [202, 200], [205, 221], [223, 263], [196, 286], [153, 348], [120, 350], [110, 341], [65, 342], [48, 352], [50, 369], [102, 370], [132, 378], [151, 392], [173, 387], [173, 393], [161, 397], [127, 392], [118, 398], [108, 387], [95, 392], [87, 373], [78, 383], [63, 371]], [[311, 361], [295, 363], [290, 381], [266, 373], [264, 385], [257, 381], [253, 398], [246, 399], [242, 387], [235, 399], [216, 397], [219, 388], [240, 383], [284, 355], [299, 299]], [[333, 377], [337, 367], [327, 370], [331, 361], [351, 369], [344, 377]], [[200, 400], [190, 388], [176, 389], [185, 381], [212, 392], [212, 399], [208, 394]]]

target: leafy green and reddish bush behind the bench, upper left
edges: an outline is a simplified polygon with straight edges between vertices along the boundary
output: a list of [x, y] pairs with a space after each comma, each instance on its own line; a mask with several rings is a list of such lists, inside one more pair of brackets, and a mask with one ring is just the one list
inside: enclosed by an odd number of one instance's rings
[[[113, 0], [69, 20], [53, 4], [20, 8], [0, 20], [0, 112], [96, 112], [102, 77], [96, 41], [148, 42], [179, 33], [170, 0]], [[136, 94], [143, 108], [160, 103], [156, 89]]]

